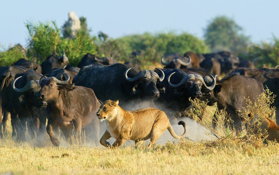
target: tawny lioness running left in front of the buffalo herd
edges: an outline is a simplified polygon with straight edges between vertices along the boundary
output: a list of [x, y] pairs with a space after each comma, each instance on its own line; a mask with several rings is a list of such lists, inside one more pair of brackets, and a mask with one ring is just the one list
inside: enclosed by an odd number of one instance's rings
[[100, 122], [106, 120], [106, 132], [100, 139], [100, 143], [105, 147], [111, 145], [106, 140], [113, 137], [116, 141], [111, 147], [120, 147], [127, 140], [134, 140], [135, 143], [150, 138], [151, 147], [160, 135], [168, 129], [170, 134], [177, 139], [186, 135], [186, 125], [183, 121], [178, 124], [184, 127], [184, 133], [178, 136], [174, 133], [169, 119], [163, 111], [154, 108], [143, 108], [134, 111], [123, 110], [118, 106], [119, 101], [105, 101], [96, 115]]

